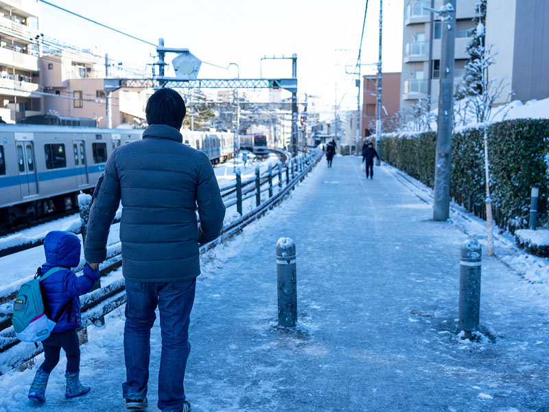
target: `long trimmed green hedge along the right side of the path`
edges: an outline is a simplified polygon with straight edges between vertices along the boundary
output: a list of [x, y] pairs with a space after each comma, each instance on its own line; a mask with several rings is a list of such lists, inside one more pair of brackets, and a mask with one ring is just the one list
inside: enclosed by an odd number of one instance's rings
[[[490, 192], [495, 222], [515, 231], [528, 224], [530, 187], [539, 187], [539, 221], [547, 225], [549, 119], [514, 119], [487, 130]], [[392, 134], [382, 139], [382, 159], [430, 187], [434, 185], [436, 133]], [[451, 192], [458, 203], [485, 217], [482, 128], [452, 136]], [[470, 204], [469, 204], [470, 202]]]

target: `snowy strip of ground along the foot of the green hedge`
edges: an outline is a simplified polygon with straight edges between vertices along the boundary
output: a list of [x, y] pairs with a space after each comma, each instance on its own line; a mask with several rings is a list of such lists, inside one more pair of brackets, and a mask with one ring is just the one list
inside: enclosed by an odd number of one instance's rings
[[[387, 163], [384, 167], [421, 201], [433, 204], [433, 190], [416, 179], [401, 172]], [[463, 207], [452, 201], [450, 219], [460, 231], [475, 238], [482, 244], [483, 252], [488, 249], [486, 221], [470, 214]], [[549, 258], [539, 258], [519, 249], [514, 236], [509, 231], [499, 231], [494, 227], [494, 250], [496, 258], [511, 268], [517, 275], [528, 282], [544, 284], [549, 293]]]

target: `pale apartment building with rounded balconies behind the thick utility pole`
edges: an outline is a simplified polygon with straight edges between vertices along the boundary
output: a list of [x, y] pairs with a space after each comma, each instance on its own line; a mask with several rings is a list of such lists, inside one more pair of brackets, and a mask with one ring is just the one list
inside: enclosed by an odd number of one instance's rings
[[[404, 1], [401, 108], [411, 108], [417, 100], [429, 96], [432, 107], [438, 104], [442, 26], [441, 20], [424, 7], [439, 9], [444, 3], [445, 0]], [[477, 0], [456, 1], [456, 85], [461, 81], [469, 58], [465, 47], [470, 40], [469, 30], [475, 27], [472, 19], [476, 15], [476, 3]]]

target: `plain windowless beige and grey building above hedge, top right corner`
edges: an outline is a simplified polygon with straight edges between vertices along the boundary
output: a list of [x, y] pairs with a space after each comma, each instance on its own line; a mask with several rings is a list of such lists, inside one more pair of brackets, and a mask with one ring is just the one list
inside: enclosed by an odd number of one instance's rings
[[549, 97], [549, 1], [489, 0], [486, 43], [497, 53], [489, 69], [492, 79], [502, 79], [504, 89], [496, 103], [514, 91], [513, 100]]

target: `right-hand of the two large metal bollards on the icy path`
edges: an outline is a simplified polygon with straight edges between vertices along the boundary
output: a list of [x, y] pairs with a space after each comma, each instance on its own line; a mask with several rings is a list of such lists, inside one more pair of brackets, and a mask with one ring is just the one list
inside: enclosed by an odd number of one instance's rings
[[478, 330], [481, 259], [482, 248], [476, 240], [467, 240], [461, 245], [458, 329], [465, 332], [465, 339], [471, 339], [471, 331]]

